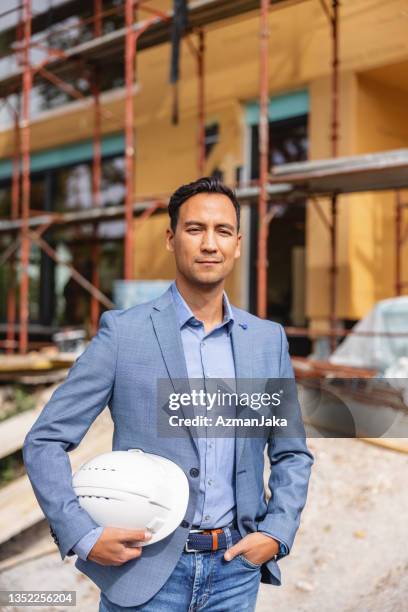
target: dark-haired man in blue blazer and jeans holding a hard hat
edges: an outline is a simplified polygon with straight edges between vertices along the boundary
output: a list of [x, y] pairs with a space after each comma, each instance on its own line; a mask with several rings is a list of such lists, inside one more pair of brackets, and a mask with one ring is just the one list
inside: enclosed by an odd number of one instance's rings
[[[102, 315], [98, 334], [29, 432], [24, 460], [62, 559], [78, 554], [76, 567], [100, 587], [100, 611], [254, 610], [261, 580], [280, 585], [277, 561], [292, 548], [313, 456], [298, 404], [296, 437], [160, 436], [159, 379], [175, 387], [189, 379], [293, 379], [283, 328], [231, 306], [224, 292], [240, 255], [235, 194], [202, 178], [173, 194], [169, 215], [175, 282], [158, 299]], [[137, 543], [149, 534], [142, 525], [103, 529], [72, 489], [67, 452], [106, 405], [113, 450], [162, 455], [189, 480], [184, 520], [143, 549]]]

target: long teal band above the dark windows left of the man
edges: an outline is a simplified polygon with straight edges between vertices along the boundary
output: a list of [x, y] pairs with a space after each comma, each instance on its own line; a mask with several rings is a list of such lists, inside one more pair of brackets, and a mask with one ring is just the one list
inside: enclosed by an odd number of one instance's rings
[[[120, 155], [125, 150], [124, 134], [109, 134], [101, 140], [102, 157]], [[75, 142], [62, 147], [53, 147], [43, 151], [35, 151], [31, 154], [31, 172], [51, 170], [62, 166], [69, 166], [81, 162], [91, 161], [93, 158], [92, 139]], [[0, 160], [0, 180], [11, 178], [13, 174], [13, 162], [11, 159]]]

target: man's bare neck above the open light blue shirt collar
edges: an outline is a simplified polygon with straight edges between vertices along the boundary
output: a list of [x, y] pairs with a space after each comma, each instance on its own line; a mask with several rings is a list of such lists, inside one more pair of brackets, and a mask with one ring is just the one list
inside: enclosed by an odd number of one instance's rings
[[206, 333], [223, 321], [224, 283], [215, 287], [201, 288], [177, 277], [176, 285], [196, 319], [204, 323]]

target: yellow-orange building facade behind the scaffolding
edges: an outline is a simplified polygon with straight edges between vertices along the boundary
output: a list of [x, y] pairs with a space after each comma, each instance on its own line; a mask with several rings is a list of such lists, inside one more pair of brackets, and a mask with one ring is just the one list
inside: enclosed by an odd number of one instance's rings
[[[160, 8], [167, 2], [152, 2]], [[306, 91], [309, 159], [330, 157], [331, 39], [320, 2], [308, 0], [271, 8], [269, 15], [269, 93]], [[408, 9], [404, 0], [344, 0], [340, 7], [339, 155], [356, 155], [408, 146]], [[208, 27], [205, 34], [206, 123], [218, 125], [218, 142], [206, 159], [206, 174], [215, 169], [233, 183], [240, 171], [248, 178], [248, 106], [258, 97], [259, 13]], [[182, 43], [179, 84], [180, 120], [171, 123], [168, 84], [170, 46], [142, 51], [137, 59], [134, 95], [135, 196], [168, 194], [197, 177], [196, 61]], [[123, 90], [102, 96], [104, 135], [123, 130]], [[73, 102], [38, 115], [32, 121], [32, 150], [41, 151], [92, 138], [92, 104]], [[273, 134], [273, 126], [272, 126]], [[10, 158], [13, 131], [0, 133], [0, 156]], [[408, 200], [408, 194], [406, 194]], [[341, 197], [338, 218], [337, 315], [364, 316], [373, 304], [395, 293], [394, 194]], [[329, 213], [328, 202], [321, 202]], [[247, 208], [244, 206], [244, 208]], [[313, 327], [325, 327], [329, 308], [329, 234], [315, 210], [306, 206], [304, 254], [294, 259], [298, 307]], [[246, 219], [246, 213], [244, 213]], [[272, 224], [274, 221], [272, 221]], [[171, 256], [164, 249], [165, 214], [135, 222], [135, 278], [172, 278]], [[244, 223], [243, 230], [248, 229]], [[303, 230], [302, 230], [303, 231]], [[244, 236], [256, 240], [256, 233]], [[248, 307], [248, 258], [228, 281], [231, 299]], [[270, 246], [273, 249], [273, 245]], [[279, 253], [274, 254], [279, 259]], [[404, 281], [408, 281], [408, 247]], [[300, 266], [300, 268], [299, 268]], [[299, 270], [304, 266], [304, 279]], [[296, 266], [295, 266], [296, 267]], [[253, 268], [251, 268], [253, 269]], [[273, 270], [269, 270], [273, 274]], [[293, 280], [293, 279], [292, 279]], [[294, 281], [293, 281], [294, 282]], [[300, 285], [299, 285], [300, 283]], [[293, 288], [292, 288], [293, 289]], [[296, 288], [295, 288], [296, 289]], [[300, 304], [300, 306], [299, 306]], [[295, 306], [292, 304], [292, 307]], [[297, 317], [301, 322], [302, 316]]]

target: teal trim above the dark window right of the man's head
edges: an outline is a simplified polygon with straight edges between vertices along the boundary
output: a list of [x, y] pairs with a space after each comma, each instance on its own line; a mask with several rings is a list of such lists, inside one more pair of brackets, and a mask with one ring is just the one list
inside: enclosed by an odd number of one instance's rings
[[[281, 121], [309, 113], [309, 92], [307, 89], [273, 96], [269, 101], [269, 121]], [[245, 108], [245, 121], [249, 126], [259, 124], [259, 102], [250, 102]]]

